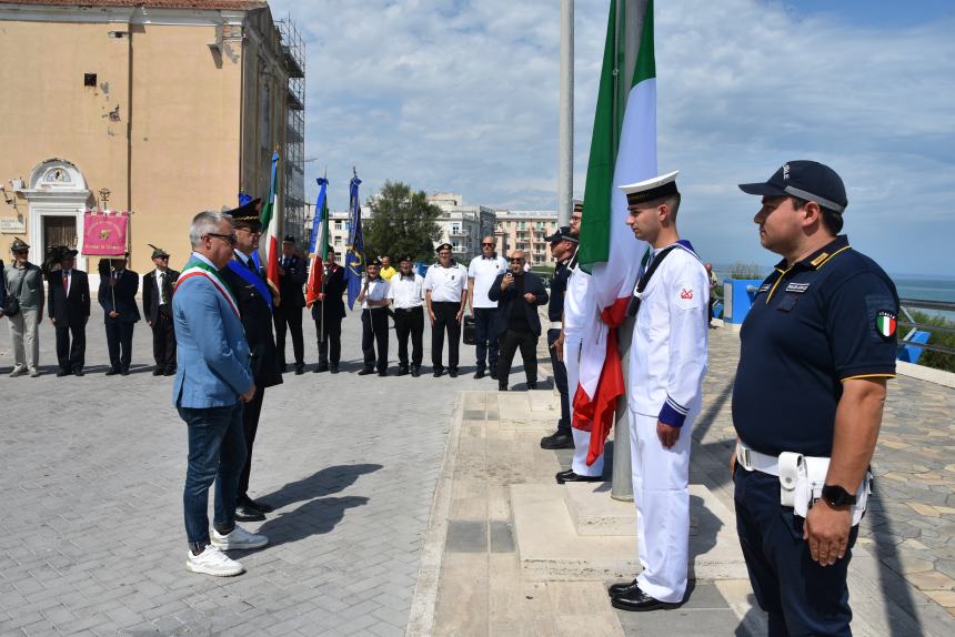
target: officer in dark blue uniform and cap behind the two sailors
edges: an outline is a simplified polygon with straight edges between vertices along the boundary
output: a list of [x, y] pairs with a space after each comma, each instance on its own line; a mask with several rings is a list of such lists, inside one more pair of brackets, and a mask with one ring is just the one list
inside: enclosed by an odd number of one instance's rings
[[541, 448], [544, 449], [572, 449], [574, 438], [571, 434], [571, 401], [567, 395], [567, 368], [559, 356], [559, 347], [554, 343], [561, 336], [561, 321], [564, 316], [564, 294], [567, 291], [567, 279], [571, 270], [567, 262], [574, 255], [580, 240], [571, 236], [570, 226], [561, 226], [551, 236], [546, 237], [551, 244], [551, 256], [557, 261], [554, 269], [554, 277], [551, 279], [551, 301], [547, 303], [547, 350], [551, 353], [551, 367], [554, 370], [554, 384], [561, 394], [561, 419], [557, 421], [557, 431], [550, 436], [541, 438]]

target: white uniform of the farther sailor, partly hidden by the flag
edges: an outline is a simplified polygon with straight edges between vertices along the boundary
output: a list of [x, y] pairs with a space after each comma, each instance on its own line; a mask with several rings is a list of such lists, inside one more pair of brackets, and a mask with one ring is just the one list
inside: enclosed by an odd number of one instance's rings
[[[573, 413], [574, 396], [577, 393], [581, 371], [581, 348], [584, 338], [587, 337], [587, 327], [594, 325], [597, 317], [596, 299], [590, 287], [591, 275], [574, 266], [567, 279], [567, 290], [564, 294], [564, 367], [567, 370], [567, 394], [571, 401], [571, 413]], [[591, 336], [595, 336], [591, 334]], [[603, 475], [603, 454], [594, 464], [587, 466], [587, 452], [590, 451], [591, 434], [571, 427], [574, 436], [574, 459], [571, 471], [581, 476]]]

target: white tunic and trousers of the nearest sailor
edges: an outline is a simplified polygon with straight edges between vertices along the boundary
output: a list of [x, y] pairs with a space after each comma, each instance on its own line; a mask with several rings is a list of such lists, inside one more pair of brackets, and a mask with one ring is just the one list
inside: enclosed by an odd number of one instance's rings
[[[655, 251], [660, 252], [660, 251]], [[637, 577], [647, 595], [683, 600], [690, 553], [690, 432], [706, 374], [710, 281], [696, 255], [681, 245], [653, 274], [633, 327], [627, 387]], [[657, 421], [682, 421], [665, 448]]]

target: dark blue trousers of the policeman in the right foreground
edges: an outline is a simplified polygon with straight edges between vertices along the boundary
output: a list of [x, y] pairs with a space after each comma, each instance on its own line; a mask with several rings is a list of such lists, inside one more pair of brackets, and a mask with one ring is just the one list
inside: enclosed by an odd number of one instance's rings
[[753, 593], [770, 614], [770, 637], [850, 637], [846, 575], [858, 526], [845, 557], [821, 566], [803, 539], [803, 518], [780, 504], [780, 478], [737, 468], [734, 481], [736, 530]]

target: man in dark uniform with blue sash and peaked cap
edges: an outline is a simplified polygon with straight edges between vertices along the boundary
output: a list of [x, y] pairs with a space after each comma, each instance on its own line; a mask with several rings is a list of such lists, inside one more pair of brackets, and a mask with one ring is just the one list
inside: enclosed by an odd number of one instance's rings
[[262, 233], [258, 205], [259, 200], [253, 200], [230, 211], [235, 230], [235, 252], [229, 266], [222, 271], [239, 303], [245, 340], [252, 354], [252, 380], [255, 382], [255, 395], [245, 403], [242, 412], [242, 429], [245, 434], [248, 453], [242, 474], [239, 476], [239, 497], [235, 506], [235, 519], [239, 522], [265, 519], [265, 514], [272, 510], [269, 505], [249, 497], [249, 476], [252, 471], [252, 446], [259, 431], [259, 415], [262, 413], [265, 387], [282, 383], [279, 355], [272, 335], [272, 307], [275, 299], [265, 284], [260, 267], [252, 259], [252, 254], [259, 250], [259, 237]]

